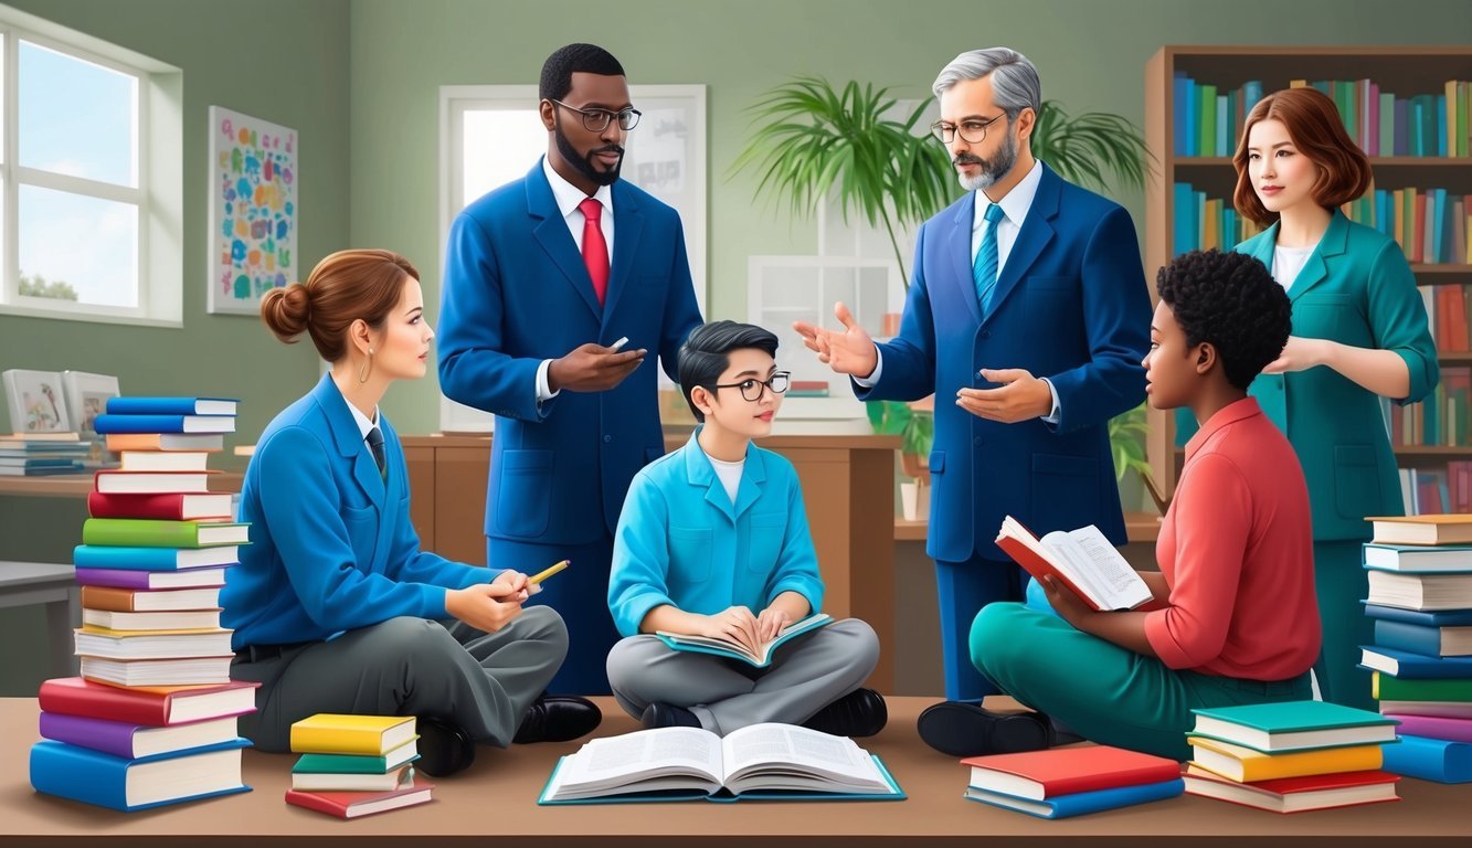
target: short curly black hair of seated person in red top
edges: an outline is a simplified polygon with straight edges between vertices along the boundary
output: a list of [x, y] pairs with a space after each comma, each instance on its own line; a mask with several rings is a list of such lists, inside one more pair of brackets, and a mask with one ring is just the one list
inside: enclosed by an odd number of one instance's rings
[[1241, 390], [1282, 355], [1292, 333], [1284, 287], [1259, 259], [1217, 249], [1182, 253], [1156, 277], [1160, 300], [1192, 347], [1210, 342], [1226, 380]]

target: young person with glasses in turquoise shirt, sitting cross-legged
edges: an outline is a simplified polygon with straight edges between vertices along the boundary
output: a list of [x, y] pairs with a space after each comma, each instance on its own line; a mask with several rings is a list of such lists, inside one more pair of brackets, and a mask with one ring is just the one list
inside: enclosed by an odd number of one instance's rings
[[[608, 605], [624, 636], [608, 655], [614, 698], [646, 727], [805, 724], [871, 736], [883, 698], [860, 685], [879, 637], [857, 618], [795, 636], [767, 667], [676, 651], [655, 632], [757, 649], [823, 605], [802, 489], [792, 464], [752, 445], [788, 390], [777, 337], [715, 321], [680, 349], [680, 387], [701, 421], [679, 451], [634, 477], [614, 537]], [[888, 589], [885, 589], [888, 590]]]

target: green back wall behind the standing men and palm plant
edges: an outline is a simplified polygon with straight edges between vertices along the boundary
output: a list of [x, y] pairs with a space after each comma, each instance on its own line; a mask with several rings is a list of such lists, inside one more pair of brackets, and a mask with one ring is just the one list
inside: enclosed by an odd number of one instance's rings
[[[748, 175], [727, 178], [748, 132], [742, 109], [795, 74], [919, 97], [961, 50], [1005, 44], [1038, 65], [1045, 97], [1142, 125], [1145, 62], [1163, 44], [1415, 44], [1469, 34], [1468, 0], [352, 0], [352, 239], [414, 259], [433, 321], [443, 250], [437, 90], [534, 84], [546, 56], [570, 41], [608, 47], [636, 84], [708, 87], [708, 311], [743, 318], [748, 255], [815, 249], [810, 224], [752, 203]], [[1142, 225], [1141, 194], [1119, 200]], [[400, 433], [433, 431], [436, 384], [396, 386], [384, 409]]]

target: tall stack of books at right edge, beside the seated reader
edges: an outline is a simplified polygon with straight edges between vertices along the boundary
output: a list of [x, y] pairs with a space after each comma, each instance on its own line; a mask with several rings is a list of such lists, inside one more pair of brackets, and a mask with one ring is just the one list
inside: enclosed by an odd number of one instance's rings
[[1372, 518], [1375, 643], [1360, 648], [1381, 713], [1400, 721], [1385, 768], [1472, 782], [1472, 515]]

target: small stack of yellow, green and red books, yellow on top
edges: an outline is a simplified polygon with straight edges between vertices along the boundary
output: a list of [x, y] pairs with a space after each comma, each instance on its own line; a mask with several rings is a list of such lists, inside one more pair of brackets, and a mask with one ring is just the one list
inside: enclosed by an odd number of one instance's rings
[[286, 802], [339, 819], [424, 804], [433, 783], [414, 776], [420, 758], [414, 716], [318, 713], [291, 724]]

